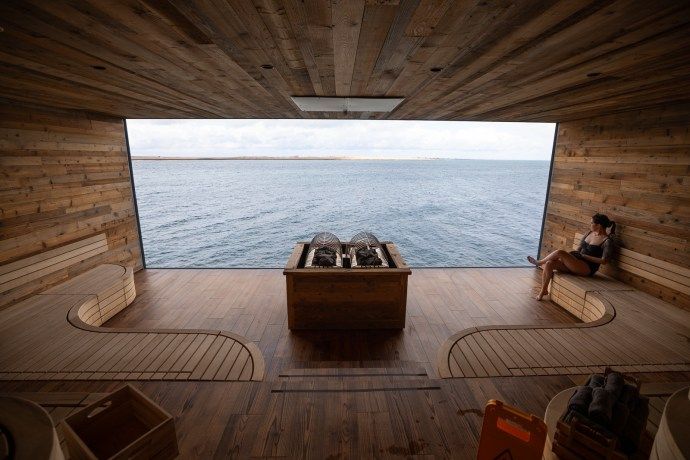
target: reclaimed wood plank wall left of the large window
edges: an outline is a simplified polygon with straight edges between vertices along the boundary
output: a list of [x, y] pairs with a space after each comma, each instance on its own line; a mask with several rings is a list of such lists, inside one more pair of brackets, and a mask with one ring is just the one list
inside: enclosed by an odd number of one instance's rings
[[0, 100], [0, 165], [0, 264], [102, 232], [108, 240], [106, 253], [24, 286], [22, 296], [101, 263], [142, 268], [122, 119]]

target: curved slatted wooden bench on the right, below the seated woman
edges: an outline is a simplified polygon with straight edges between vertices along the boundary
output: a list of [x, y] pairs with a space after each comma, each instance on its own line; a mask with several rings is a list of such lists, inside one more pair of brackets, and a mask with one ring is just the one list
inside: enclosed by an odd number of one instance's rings
[[606, 366], [690, 371], [690, 313], [632, 288], [586, 291], [584, 299], [575, 313], [588, 322], [484, 326], [453, 335], [437, 354], [440, 376], [590, 374]]

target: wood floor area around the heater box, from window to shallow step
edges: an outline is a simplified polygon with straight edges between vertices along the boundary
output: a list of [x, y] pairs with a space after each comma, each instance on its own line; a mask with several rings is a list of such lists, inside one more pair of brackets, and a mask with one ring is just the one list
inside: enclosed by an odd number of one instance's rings
[[107, 326], [232, 332], [259, 346], [267, 379], [286, 368], [357, 361], [416, 363], [436, 377], [438, 348], [462, 329], [575, 322], [533, 299], [538, 276], [529, 268], [416, 269], [403, 331], [290, 332], [282, 270], [145, 270], [136, 275], [135, 301]]

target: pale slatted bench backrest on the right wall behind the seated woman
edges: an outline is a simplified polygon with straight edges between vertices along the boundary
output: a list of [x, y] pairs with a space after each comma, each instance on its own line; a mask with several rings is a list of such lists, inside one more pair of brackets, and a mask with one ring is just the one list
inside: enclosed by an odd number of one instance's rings
[[[573, 249], [577, 249], [584, 234], [576, 233]], [[619, 270], [632, 273], [661, 286], [690, 295], [690, 269], [655, 259], [654, 257], [617, 247], [613, 257], [613, 266]]]

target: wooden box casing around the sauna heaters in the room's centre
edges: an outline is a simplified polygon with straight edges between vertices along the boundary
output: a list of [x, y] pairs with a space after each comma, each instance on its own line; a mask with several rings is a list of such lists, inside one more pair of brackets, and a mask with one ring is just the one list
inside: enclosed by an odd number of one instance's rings
[[403, 329], [407, 277], [395, 245], [383, 242], [388, 268], [304, 268], [309, 243], [297, 243], [283, 274], [290, 329]]

